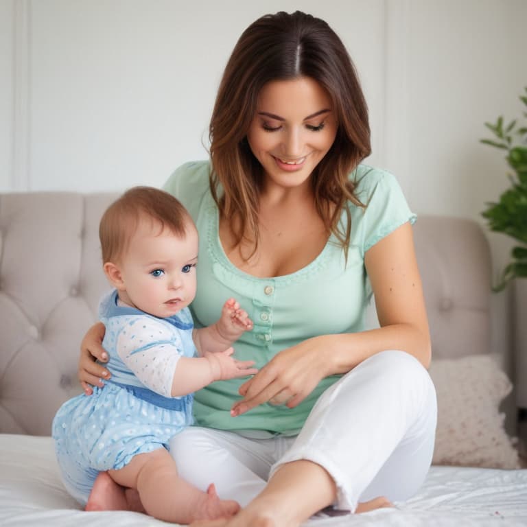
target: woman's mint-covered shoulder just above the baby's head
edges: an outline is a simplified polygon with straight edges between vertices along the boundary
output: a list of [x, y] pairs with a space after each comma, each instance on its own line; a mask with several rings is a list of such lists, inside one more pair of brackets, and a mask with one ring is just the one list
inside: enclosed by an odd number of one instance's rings
[[202, 198], [210, 191], [210, 171], [209, 161], [190, 161], [176, 168], [163, 185], [163, 190], [178, 198], [194, 220]]

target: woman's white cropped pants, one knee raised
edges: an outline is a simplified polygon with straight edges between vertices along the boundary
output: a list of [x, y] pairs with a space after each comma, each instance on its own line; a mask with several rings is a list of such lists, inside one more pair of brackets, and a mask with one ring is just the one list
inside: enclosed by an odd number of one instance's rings
[[320, 396], [298, 436], [251, 439], [190, 427], [171, 454], [180, 476], [245, 506], [283, 463], [312, 460], [338, 488], [336, 508], [373, 497], [407, 500], [423, 483], [434, 449], [436, 393], [421, 363], [403, 351], [368, 358]]

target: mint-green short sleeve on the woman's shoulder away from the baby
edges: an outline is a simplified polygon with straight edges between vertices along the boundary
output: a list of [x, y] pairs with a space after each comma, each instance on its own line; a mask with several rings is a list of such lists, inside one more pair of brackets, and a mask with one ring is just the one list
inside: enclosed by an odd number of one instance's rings
[[368, 169], [358, 174], [356, 193], [366, 205], [360, 209], [363, 255], [380, 239], [406, 222], [414, 224], [417, 215], [410, 211], [399, 182], [390, 174], [378, 169]]

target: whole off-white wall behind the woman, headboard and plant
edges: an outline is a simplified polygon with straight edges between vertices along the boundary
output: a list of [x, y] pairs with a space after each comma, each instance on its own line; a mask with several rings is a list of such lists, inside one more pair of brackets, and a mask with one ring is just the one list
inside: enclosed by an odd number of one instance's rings
[[[484, 121], [519, 114], [524, 0], [0, 0], [0, 191], [162, 185], [207, 156], [242, 30], [295, 9], [326, 19], [355, 60], [369, 161], [395, 172], [414, 211], [482, 222], [508, 181], [478, 140]], [[489, 238], [502, 268], [510, 242]], [[497, 320], [507, 301], [495, 297]]]

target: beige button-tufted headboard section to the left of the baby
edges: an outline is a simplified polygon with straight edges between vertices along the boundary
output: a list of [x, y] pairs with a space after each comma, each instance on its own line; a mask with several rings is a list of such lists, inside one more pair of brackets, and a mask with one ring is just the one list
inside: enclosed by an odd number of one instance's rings
[[109, 287], [99, 218], [115, 197], [0, 194], [0, 432], [47, 435], [81, 393], [80, 342]]

